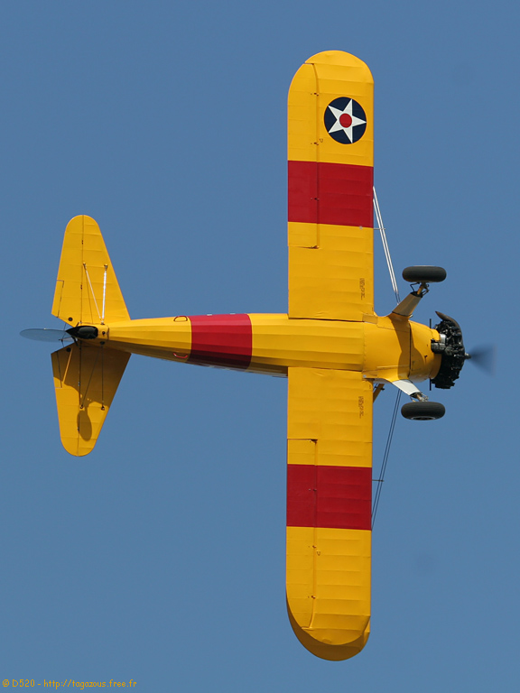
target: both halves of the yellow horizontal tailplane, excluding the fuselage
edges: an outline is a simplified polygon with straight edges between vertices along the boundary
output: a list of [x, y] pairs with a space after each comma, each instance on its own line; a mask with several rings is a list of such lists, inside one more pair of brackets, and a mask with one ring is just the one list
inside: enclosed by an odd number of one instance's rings
[[[129, 319], [103, 236], [91, 217], [74, 217], [65, 230], [52, 315], [71, 326]], [[88, 455], [130, 354], [79, 339], [51, 357], [61, 442], [71, 455]]]

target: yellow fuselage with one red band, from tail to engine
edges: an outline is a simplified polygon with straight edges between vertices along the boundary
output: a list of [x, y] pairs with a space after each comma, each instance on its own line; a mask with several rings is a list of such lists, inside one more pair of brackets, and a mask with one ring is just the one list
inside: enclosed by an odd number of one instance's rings
[[181, 363], [286, 375], [290, 366], [357, 371], [370, 380], [434, 377], [437, 330], [394, 313], [362, 322], [284, 314], [176, 316], [97, 325], [98, 343]]

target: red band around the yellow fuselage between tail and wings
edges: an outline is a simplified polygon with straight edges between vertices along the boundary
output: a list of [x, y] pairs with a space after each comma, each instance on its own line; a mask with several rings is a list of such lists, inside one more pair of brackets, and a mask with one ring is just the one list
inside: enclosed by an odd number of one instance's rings
[[246, 314], [193, 315], [190, 364], [247, 368], [251, 363], [253, 330]]

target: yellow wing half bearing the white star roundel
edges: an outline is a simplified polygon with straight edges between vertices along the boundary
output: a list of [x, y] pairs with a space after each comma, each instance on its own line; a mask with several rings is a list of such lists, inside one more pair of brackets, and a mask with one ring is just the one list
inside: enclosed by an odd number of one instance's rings
[[360, 320], [374, 312], [370, 70], [318, 53], [288, 106], [289, 317]]

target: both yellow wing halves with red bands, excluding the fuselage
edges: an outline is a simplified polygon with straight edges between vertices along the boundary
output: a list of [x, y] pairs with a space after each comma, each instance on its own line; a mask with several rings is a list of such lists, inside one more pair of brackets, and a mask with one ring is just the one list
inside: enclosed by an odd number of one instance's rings
[[[313, 56], [288, 104], [289, 317], [374, 314], [373, 80], [341, 51]], [[287, 606], [302, 644], [344, 660], [370, 624], [372, 385], [289, 368]]]

